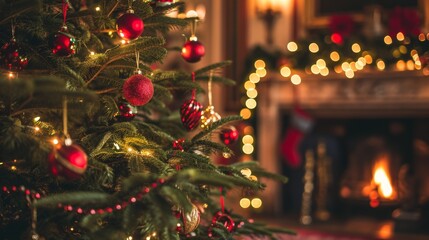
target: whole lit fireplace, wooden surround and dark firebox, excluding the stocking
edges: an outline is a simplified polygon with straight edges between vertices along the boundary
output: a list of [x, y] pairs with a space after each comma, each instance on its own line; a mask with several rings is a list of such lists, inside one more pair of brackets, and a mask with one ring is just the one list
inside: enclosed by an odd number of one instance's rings
[[[429, 170], [427, 78], [418, 71], [366, 72], [354, 79], [305, 75], [296, 87], [271, 73], [258, 86], [258, 159], [262, 167], [287, 175], [290, 182], [285, 186], [267, 182], [266, 213], [295, 213], [302, 223], [310, 223], [302, 219], [305, 198], [312, 199], [309, 216], [319, 221], [359, 215], [393, 219], [394, 210], [404, 208], [414, 213], [421, 207], [417, 201], [429, 198], [423, 170]], [[300, 144], [305, 161], [299, 168], [284, 164], [279, 151], [289, 126], [294, 87], [315, 123]], [[325, 167], [313, 164], [311, 169], [305, 164], [320, 159], [327, 159]], [[314, 173], [311, 197], [303, 180], [309, 170]], [[318, 179], [320, 171], [328, 177]], [[319, 185], [326, 185], [323, 191]]]

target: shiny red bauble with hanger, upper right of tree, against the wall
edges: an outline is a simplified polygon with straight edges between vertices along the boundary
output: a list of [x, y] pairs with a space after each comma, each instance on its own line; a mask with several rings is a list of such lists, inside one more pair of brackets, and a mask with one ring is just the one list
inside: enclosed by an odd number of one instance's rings
[[205, 54], [204, 45], [198, 41], [197, 36], [195, 35], [195, 30], [197, 26], [197, 20], [192, 22], [191, 25], [191, 37], [189, 41], [185, 42], [182, 47], [182, 57], [187, 62], [195, 63], [201, 60]]

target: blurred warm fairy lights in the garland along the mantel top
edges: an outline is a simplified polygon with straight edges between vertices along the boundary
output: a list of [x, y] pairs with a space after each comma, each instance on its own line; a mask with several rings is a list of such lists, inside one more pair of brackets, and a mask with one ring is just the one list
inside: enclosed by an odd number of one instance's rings
[[[334, 35], [328, 38], [328, 44], [334, 44]], [[417, 37], [420, 43], [429, 41], [429, 34], [421, 33]], [[388, 57], [393, 57], [393, 63], [387, 63], [386, 59], [382, 56], [375, 56], [373, 54], [374, 49], [364, 49], [362, 43], [354, 42], [350, 44], [350, 50], [355, 54], [355, 58], [345, 56], [338, 50], [332, 50], [329, 56], [326, 58], [320, 57], [313, 63], [307, 64], [304, 68], [304, 73], [307, 75], [320, 75], [327, 77], [331, 72], [337, 74], [344, 74], [347, 78], [352, 79], [355, 77], [355, 73], [362, 71], [368, 66], [375, 67], [378, 71], [384, 70], [396, 70], [396, 71], [413, 71], [422, 70], [424, 75], [429, 75], [429, 68], [423, 67], [421, 61], [421, 55], [418, 50], [413, 46], [409, 37], [405, 36], [402, 32], [398, 32], [396, 36], [391, 37], [389, 35], [384, 36], [383, 43], [387, 47], [391, 47], [391, 54]], [[395, 46], [393, 46], [395, 44]], [[301, 46], [305, 48], [305, 46]], [[308, 54], [317, 54], [321, 51], [322, 47], [316, 42], [310, 42], [307, 49], [300, 49], [296, 42], [289, 42], [286, 48], [290, 56], [299, 50], [306, 51]], [[279, 72], [281, 76], [290, 78], [290, 81], [294, 85], [301, 84], [302, 70], [294, 69], [290, 65], [283, 65], [280, 67]]]

